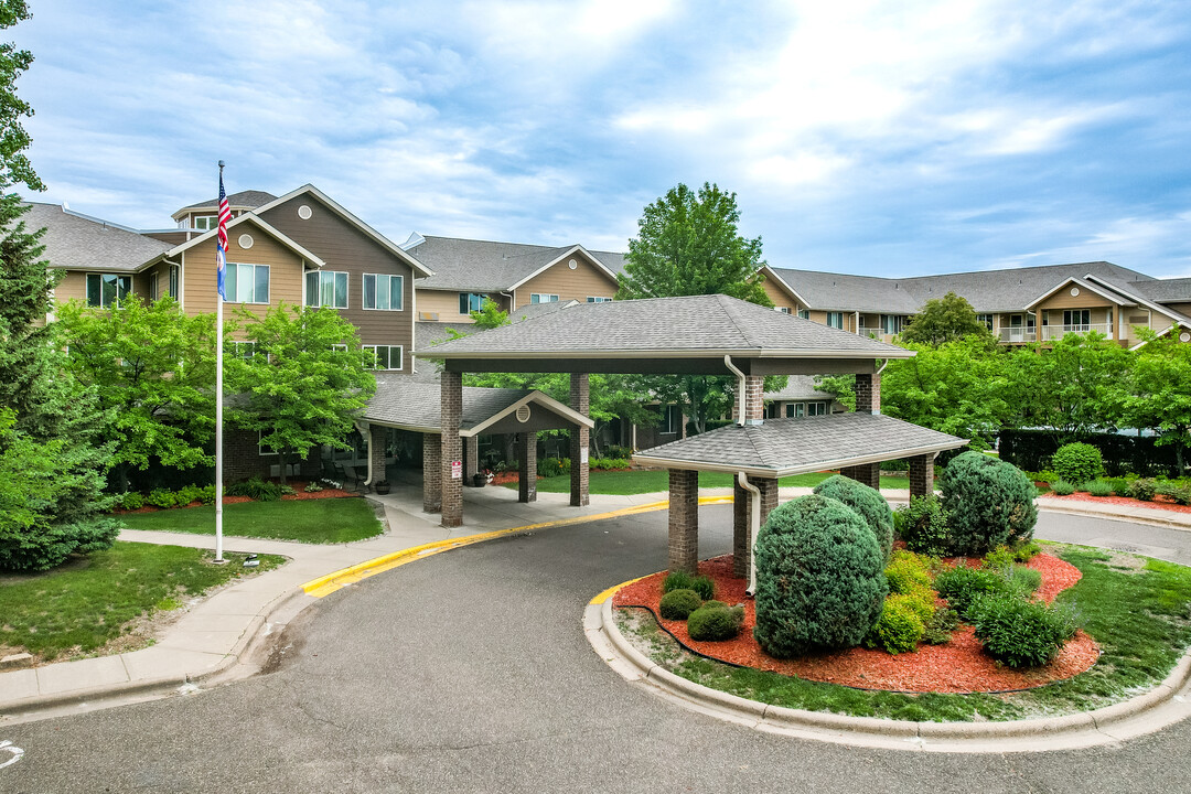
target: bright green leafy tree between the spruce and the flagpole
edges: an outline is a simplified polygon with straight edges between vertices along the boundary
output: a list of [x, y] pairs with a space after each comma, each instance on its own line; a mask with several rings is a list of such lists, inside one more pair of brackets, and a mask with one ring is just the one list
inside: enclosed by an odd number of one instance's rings
[[164, 296], [129, 296], [112, 308], [70, 301], [58, 311], [69, 365], [94, 386], [112, 420], [117, 489], [154, 458], [179, 469], [210, 465], [214, 433], [214, 315], [187, 317]]

